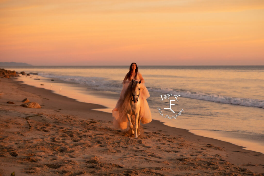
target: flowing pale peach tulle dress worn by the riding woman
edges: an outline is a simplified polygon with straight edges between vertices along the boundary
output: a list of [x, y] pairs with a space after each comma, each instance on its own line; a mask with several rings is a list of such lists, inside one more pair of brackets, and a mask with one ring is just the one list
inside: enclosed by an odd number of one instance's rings
[[[115, 108], [112, 110], [112, 116], [114, 117], [113, 123], [115, 128], [119, 129], [126, 129], [128, 127], [128, 118], [126, 116], [126, 112], [123, 112], [122, 106], [129, 106], [129, 99], [125, 99], [125, 91], [128, 88], [129, 84], [131, 83], [132, 79], [139, 81], [140, 80], [140, 73], [137, 72], [135, 78], [132, 76], [130, 79], [128, 78], [123, 82], [122, 91], [119, 97], [119, 100], [116, 103]], [[149, 97], [148, 89], [146, 88], [144, 83], [140, 83], [140, 111], [139, 116], [141, 117], [141, 123], [149, 123], [152, 121], [151, 113], [149, 109], [149, 105], [147, 102], [147, 98]], [[134, 116], [134, 115], [133, 115]]]

